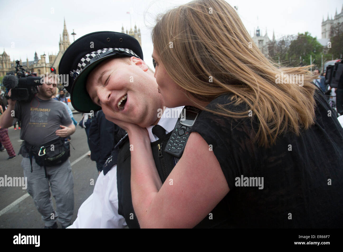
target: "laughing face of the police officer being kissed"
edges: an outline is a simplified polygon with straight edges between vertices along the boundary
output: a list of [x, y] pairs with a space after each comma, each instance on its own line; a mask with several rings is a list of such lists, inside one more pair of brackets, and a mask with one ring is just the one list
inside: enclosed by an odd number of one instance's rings
[[153, 73], [135, 57], [113, 58], [98, 65], [87, 78], [86, 90], [110, 121], [147, 127], [156, 122], [157, 109], [163, 107]]

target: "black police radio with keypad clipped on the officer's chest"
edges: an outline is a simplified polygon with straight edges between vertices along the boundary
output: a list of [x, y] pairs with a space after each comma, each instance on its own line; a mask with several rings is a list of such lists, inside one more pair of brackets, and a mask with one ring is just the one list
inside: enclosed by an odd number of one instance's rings
[[201, 111], [202, 110], [192, 106], [184, 107], [177, 120], [173, 133], [171, 133], [169, 137], [168, 144], [164, 150], [165, 152], [176, 157], [181, 157], [191, 133], [190, 130]]

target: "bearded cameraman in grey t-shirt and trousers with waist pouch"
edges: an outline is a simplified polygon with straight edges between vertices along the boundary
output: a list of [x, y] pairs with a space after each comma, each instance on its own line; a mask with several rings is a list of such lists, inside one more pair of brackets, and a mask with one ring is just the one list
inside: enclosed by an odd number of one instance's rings
[[[18, 154], [23, 156], [21, 166], [28, 181], [27, 192], [33, 197], [45, 228], [57, 228], [56, 217], [59, 217], [62, 228], [69, 226], [74, 211], [74, 181], [69, 158], [59, 165], [40, 166], [36, 163], [39, 155], [32, 151], [36, 148], [39, 150], [45, 143], [58, 141], [60, 137], [65, 138], [75, 132], [75, 126], [65, 106], [51, 99], [55, 91], [54, 78], [45, 78], [31, 102], [16, 103], [15, 100], [8, 99], [8, 108], [0, 118], [1, 128], [12, 126], [12, 116], [22, 122], [20, 138], [24, 142]], [[50, 148], [46, 150], [48, 152]], [[58, 215], [52, 206], [49, 182], [56, 200]]]

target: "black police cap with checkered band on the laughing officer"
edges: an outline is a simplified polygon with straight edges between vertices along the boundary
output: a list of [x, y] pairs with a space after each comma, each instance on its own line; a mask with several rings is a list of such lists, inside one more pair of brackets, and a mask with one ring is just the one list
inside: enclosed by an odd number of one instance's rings
[[63, 53], [58, 66], [59, 74], [69, 76], [65, 88], [70, 93], [74, 109], [83, 113], [100, 110], [86, 91], [88, 74], [105, 59], [131, 56], [143, 60], [139, 42], [128, 34], [93, 32], [75, 40]]

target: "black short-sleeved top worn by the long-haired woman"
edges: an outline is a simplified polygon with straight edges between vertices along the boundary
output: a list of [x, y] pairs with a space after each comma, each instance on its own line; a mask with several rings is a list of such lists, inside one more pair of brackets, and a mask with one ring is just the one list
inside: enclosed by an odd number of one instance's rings
[[[315, 93], [316, 121], [299, 136], [286, 133], [269, 148], [253, 142], [255, 117], [234, 119], [202, 111], [192, 131], [212, 145], [230, 188], [227, 214], [237, 227], [343, 227], [343, 129]], [[208, 108], [229, 103], [214, 99]], [[225, 105], [245, 111], [246, 105]], [[262, 180], [263, 178], [263, 180]]]

